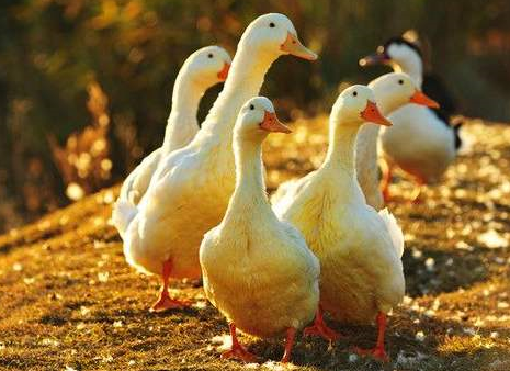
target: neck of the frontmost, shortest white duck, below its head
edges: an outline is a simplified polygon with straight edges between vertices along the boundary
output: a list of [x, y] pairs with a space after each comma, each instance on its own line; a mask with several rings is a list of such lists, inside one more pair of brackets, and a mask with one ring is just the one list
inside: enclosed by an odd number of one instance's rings
[[272, 215], [265, 193], [261, 143], [236, 136], [234, 158], [236, 188], [225, 214], [225, 223], [239, 222], [254, 214]]

